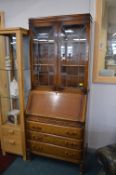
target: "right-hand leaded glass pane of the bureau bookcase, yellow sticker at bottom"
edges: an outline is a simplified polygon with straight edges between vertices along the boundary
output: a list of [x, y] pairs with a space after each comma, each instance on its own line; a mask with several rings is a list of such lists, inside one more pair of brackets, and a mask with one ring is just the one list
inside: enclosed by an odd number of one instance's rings
[[88, 59], [86, 26], [62, 26], [59, 49], [62, 85], [68, 87], [83, 87]]

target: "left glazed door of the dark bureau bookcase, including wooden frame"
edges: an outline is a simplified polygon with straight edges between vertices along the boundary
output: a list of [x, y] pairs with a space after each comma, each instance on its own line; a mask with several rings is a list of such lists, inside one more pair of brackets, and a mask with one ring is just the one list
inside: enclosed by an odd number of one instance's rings
[[56, 84], [56, 26], [54, 23], [34, 25], [31, 36], [32, 88], [53, 87]]

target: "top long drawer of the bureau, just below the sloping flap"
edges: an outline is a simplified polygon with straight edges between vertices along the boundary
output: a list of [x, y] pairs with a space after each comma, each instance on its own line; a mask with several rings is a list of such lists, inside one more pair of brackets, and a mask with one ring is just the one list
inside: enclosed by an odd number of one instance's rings
[[76, 139], [82, 139], [84, 131], [83, 128], [65, 127], [32, 121], [27, 121], [27, 129]]

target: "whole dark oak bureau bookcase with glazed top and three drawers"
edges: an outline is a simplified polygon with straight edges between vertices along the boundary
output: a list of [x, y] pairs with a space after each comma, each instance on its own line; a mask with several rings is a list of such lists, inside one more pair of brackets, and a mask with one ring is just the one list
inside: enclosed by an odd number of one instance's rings
[[29, 19], [30, 153], [83, 163], [90, 15]]

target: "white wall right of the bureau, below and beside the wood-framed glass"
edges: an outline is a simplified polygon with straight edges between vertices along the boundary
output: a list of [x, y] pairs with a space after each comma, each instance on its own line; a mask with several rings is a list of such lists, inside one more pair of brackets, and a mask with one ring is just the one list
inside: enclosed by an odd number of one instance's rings
[[[90, 12], [95, 20], [96, 0], [90, 0]], [[94, 23], [92, 44], [94, 43]], [[93, 57], [93, 47], [91, 56]], [[91, 60], [93, 62], [93, 59]], [[91, 72], [92, 73], [92, 72]], [[89, 134], [90, 148], [97, 148], [116, 142], [116, 85], [93, 84], [90, 81]]]

